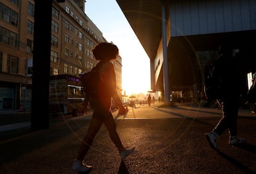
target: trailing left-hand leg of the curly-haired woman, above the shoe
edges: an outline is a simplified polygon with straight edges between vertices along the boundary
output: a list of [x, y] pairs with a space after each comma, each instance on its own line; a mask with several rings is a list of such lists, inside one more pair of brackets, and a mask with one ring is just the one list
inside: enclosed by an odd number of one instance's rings
[[80, 145], [79, 153], [77, 155], [77, 160], [83, 160], [85, 157], [85, 154], [87, 154], [88, 150], [90, 149], [90, 146], [93, 143], [93, 139], [96, 135], [96, 133], [100, 130], [101, 125], [103, 122], [100, 119], [96, 119], [92, 117], [92, 120], [90, 122], [87, 134], [84, 136], [83, 141]]

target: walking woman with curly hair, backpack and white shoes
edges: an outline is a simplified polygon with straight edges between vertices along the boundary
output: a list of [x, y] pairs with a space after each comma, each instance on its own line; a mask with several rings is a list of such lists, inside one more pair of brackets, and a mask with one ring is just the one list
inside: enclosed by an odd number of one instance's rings
[[108, 129], [109, 136], [119, 150], [119, 155], [122, 159], [134, 151], [134, 148], [126, 149], [122, 145], [119, 135], [116, 132], [116, 123], [111, 113], [111, 98], [113, 98], [119, 107], [119, 114], [126, 114], [127, 112], [116, 92], [116, 74], [113, 64], [110, 63], [111, 60], [115, 60], [118, 57], [119, 50], [114, 44], [102, 42], [96, 45], [92, 52], [95, 59], [100, 61], [94, 68], [98, 71], [100, 81], [98, 87], [95, 87], [95, 89], [98, 89], [98, 93], [93, 93], [93, 95], [87, 93], [85, 95], [85, 113], [87, 112], [87, 105], [90, 100], [90, 105], [93, 108], [93, 116], [88, 131], [80, 145], [77, 158], [72, 165], [74, 172], [88, 172], [92, 169], [91, 166], [83, 163], [83, 158], [90, 149], [96, 133], [103, 124]]

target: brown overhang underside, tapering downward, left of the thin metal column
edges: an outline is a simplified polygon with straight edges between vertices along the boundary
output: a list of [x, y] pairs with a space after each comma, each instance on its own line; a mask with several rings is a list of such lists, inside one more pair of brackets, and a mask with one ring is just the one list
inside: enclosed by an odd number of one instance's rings
[[161, 39], [159, 0], [117, 0], [148, 57], [154, 58]]

